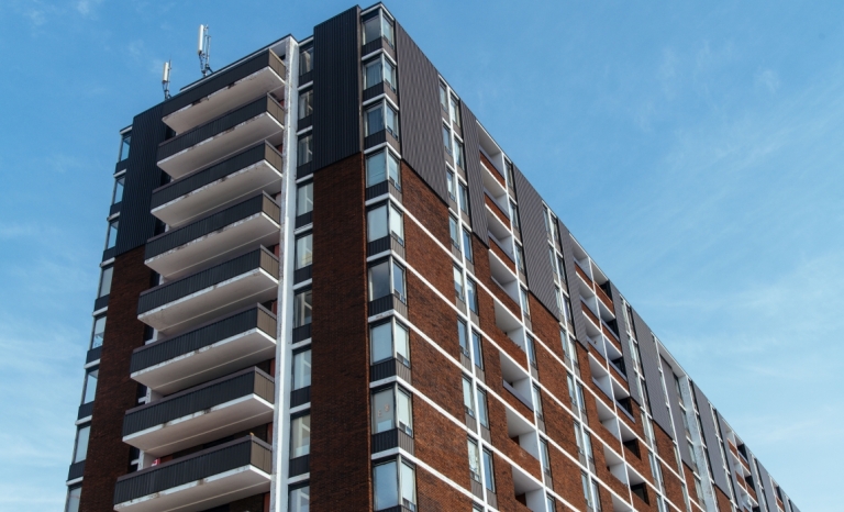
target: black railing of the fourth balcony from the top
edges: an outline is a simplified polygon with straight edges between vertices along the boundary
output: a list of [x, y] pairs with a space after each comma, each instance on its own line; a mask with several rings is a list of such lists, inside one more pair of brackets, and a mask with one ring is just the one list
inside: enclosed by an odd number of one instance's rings
[[168, 231], [146, 242], [144, 258], [151, 259], [191, 241], [207, 236], [252, 215], [264, 213], [277, 224], [281, 223], [281, 207], [267, 194], [258, 192], [233, 207], [212, 213], [178, 230]]

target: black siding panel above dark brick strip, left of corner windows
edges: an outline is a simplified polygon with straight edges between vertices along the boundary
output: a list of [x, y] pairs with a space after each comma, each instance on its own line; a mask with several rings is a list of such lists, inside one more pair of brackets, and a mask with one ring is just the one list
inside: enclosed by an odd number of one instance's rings
[[313, 169], [360, 152], [360, 9], [313, 27]]

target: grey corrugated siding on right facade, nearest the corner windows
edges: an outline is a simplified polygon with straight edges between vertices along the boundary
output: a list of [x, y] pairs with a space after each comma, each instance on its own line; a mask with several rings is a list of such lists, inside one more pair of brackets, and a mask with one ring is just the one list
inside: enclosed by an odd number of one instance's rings
[[398, 23], [396, 53], [401, 98], [401, 156], [446, 201], [445, 148], [440, 127], [443, 123], [440, 114], [440, 75]]

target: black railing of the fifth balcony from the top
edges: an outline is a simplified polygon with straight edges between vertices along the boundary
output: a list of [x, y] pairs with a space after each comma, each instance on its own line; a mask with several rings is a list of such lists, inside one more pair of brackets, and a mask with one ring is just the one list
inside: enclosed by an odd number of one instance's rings
[[258, 268], [278, 279], [278, 259], [269, 251], [260, 247], [197, 274], [142, 292], [137, 301], [137, 314], [144, 314], [182, 297]]

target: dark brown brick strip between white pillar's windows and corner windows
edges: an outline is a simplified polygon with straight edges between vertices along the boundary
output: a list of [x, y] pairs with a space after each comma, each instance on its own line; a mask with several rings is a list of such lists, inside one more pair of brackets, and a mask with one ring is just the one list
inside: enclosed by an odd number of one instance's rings
[[369, 350], [360, 154], [313, 177], [311, 510], [370, 510]]

